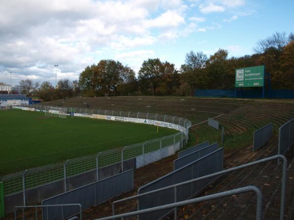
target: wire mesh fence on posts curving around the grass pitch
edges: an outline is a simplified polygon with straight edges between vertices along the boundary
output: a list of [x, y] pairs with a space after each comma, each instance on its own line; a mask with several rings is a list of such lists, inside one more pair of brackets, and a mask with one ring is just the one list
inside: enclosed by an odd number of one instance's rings
[[[47, 106], [43, 105], [30, 105], [26, 106], [36, 110], [47, 110]], [[149, 120], [158, 120], [167, 123], [176, 124], [181, 126], [182, 129], [176, 128], [178, 133], [149, 140], [146, 142], [125, 146], [109, 151], [99, 152], [97, 154], [82, 156], [74, 159], [69, 159], [63, 163], [51, 164], [43, 167], [32, 168], [22, 172], [10, 174], [0, 177], [0, 182], [3, 182], [4, 195], [8, 196], [14, 193], [24, 192], [25, 190], [32, 189], [37, 186], [42, 186], [57, 180], [66, 180], [71, 176], [80, 175], [90, 171], [97, 172], [102, 167], [106, 167], [116, 163], [122, 163], [162, 148], [166, 148], [176, 143], [181, 143], [188, 140], [188, 130], [191, 126], [191, 121], [185, 118], [162, 115], [144, 112], [131, 112], [131, 111], [117, 111], [117, 110], [97, 110], [97, 109], [82, 109], [82, 108], [68, 108], [69, 112], [80, 114], [102, 114], [118, 117], [131, 117]], [[175, 129], [175, 128], [174, 128]], [[122, 166], [123, 167], [123, 166]]]

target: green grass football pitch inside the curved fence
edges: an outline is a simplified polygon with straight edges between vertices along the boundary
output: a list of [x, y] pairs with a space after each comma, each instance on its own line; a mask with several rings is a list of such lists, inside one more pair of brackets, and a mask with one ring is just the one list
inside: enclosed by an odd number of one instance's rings
[[0, 176], [177, 132], [156, 130], [145, 124], [1, 110]]

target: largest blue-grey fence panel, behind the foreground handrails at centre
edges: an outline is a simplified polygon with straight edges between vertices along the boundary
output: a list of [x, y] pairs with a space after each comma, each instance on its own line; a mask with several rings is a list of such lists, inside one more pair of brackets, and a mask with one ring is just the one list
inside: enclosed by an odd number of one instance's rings
[[[158, 178], [145, 186], [142, 186], [138, 190], [138, 194], [146, 193], [155, 189], [160, 189], [165, 186], [170, 186], [176, 183], [194, 179], [200, 176], [205, 176], [208, 174], [219, 172], [223, 169], [223, 149], [220, 148], [211, 154], [208, 154], [200, 159], [173, 171], [161, 178]], [[195, 183], [186, 184], [177, 187], [176, 201], [183, 201], [191, 198], [199, 190], [203, 189], [207, 184], [213, 181], [217, 177], [212, 177], [211, 179], [204, 179], [197, 181]], [[164, 191], [152, 193], [146, 196], [142, 196], [138, 201], [138, 209], [146, 209], [159, 205], [169, 204], [175, 201], [174, 199], [174, 189], [167, 189]], [[166, 209], [161, 211], [156, 211], [152, 213], [140, 215], [140, 220], [156, 220], [164, 217], [172, 209]]]

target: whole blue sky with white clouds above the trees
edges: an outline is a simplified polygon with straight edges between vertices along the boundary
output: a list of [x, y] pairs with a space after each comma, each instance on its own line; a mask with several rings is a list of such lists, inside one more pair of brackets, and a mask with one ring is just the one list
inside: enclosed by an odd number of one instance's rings
[[294, 0], [0, 0], [0, 82], [77, 80], [113, 59], [136, 72], [160, 58], [179, 68], [189, 51], [253, 53], [294, 32]]

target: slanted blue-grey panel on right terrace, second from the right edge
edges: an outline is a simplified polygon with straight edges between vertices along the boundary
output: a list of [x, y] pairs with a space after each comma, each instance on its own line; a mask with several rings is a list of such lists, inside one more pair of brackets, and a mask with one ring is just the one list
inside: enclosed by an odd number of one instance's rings
[[261, 148], [268, 140], [270, 140], [272, 134], [272, 123], [258, 129], [253, 134], [253, 151]]

